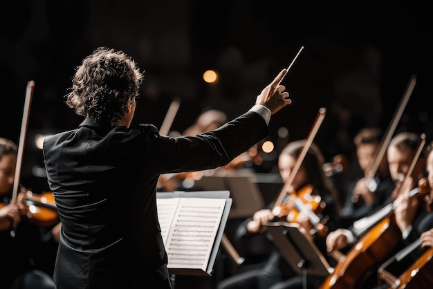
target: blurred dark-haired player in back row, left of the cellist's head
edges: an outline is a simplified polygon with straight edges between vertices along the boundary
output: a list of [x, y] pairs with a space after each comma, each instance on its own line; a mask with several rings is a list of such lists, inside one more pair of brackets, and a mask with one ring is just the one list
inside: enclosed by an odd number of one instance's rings
[[347, 196], [341, 211], [343, 227], [349, 227], [353, 221], [375, 212], [391, 200], [394, 182], [389, 174], [386, 156], [380, 160], [376, 176], [367, 178], [368, 170], [376, 161], [374, 156], [382, 138], [380, 129], [374, 127], [360, 129], [353, 138], [356, 160], [362, 170], [362, 176], [347, 186]]

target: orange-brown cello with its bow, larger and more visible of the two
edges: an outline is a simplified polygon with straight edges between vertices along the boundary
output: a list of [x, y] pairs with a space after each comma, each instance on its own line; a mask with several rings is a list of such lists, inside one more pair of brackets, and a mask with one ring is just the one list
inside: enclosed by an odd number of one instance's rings
[[[396, 186], [397, 192], [410, 181], [409, 176], [412, 175], [424, 145], [425, 135], [422, 134], [405, 180]], [[426, 193], [420, 192], [417, 187], [409, 192], [409, 198], [421, 194]], [[335, 265], [333, 273], [326, 277], [319, 287], [320, 289], [362, 288], [365, 281], [371, 277], [371, 273], [378, 268], [378, 263], [387, 258], [400, 241], [401, 233], [393, 214], [397, 205], [398, 199], [389, 208], [387, 207], [387, 214], [363, 234], [346, 255], [339, 253], [342, 257], [337, 260], [338, 263]]]

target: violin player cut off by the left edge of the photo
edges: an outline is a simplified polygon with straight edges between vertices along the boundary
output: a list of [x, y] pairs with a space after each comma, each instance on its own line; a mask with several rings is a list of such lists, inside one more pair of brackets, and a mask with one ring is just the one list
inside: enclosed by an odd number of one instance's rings
[[0, 288], [55, 288], [44, 261], [51, 258], [51, 248], [57, 248], [59, 227], [45, 234], [22, 216], [20, 203], [10, 203], [17, 151], [15, 142], [0, 138]]

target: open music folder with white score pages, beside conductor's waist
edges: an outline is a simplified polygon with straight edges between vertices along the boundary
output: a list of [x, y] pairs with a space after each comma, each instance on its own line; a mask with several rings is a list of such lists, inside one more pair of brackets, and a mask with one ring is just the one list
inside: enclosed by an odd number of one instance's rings
[[170, 274], [212, 275], [232, 205], [229, 191], [156, 193]]

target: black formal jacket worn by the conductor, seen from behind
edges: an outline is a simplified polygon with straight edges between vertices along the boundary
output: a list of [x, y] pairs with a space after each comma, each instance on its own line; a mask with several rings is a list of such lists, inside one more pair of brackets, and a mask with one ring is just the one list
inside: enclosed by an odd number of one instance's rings
[[149, 124], [104, 127], [86, 118], [46, 139], [48, 184], [62, 221], [58, 288], [170, 288], [159, 175], [226, 165], [269, 132], [248, 111], [199, 136], [169, 138]]

